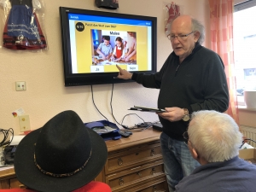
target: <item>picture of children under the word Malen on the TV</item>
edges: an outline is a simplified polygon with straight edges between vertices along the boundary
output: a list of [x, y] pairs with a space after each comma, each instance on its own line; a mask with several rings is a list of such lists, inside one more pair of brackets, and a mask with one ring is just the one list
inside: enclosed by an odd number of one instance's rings
[[92, 65], [137, 65], [136, 32], [91, 30]]

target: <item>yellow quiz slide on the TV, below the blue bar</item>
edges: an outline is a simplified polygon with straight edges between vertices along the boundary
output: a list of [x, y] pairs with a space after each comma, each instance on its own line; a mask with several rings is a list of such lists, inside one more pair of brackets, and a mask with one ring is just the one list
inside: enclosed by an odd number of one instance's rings
[[131, 72], [150, 70], [150, 26], [84, 20], [69, 24], [73, 73], [118, 72], [116, 65]]

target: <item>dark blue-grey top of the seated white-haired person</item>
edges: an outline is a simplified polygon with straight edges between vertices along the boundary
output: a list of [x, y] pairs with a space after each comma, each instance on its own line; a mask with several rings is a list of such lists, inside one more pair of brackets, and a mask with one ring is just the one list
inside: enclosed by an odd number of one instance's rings
[[199, 166], [175, 186], [176, 192], [254, 192], [256, 166], [238, 156]]

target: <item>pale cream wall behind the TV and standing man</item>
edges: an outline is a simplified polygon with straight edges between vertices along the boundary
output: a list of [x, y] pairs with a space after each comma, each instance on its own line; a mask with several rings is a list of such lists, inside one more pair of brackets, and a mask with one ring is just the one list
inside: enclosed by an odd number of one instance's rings
[[[79, 113], [84, 122], [103, 119], [97, 112], [91, 99], [90, 86], [65, 87], [63, 78], [63, 62], [61, 52], [61, 28], [59, 7], [111, 11], [124, 14], [149, 15], [158, 19], [157, 63], [158, 70], [172, 51], [172, 46], [165, 36], [166, 12], [162, 0], [119, 0], [119, 9], [108, 10], [95, 7], [94, 0], [44, 0], [45, 32], [49, 50], [42, 53], [30, 51], [10, 51], [0, 48], [0, 128], [15, 130], [20, 134], [18, 119], [12, 112], [23, 108], [30, 115], [32, 130], [43, 126], [55, 114], [71, 109]], [[192, 15], [207, 26], [209, 8], [207, 0], [176, 1], [181, 13]], [[3, 15], [3, 9], [0, 10]], [[3, 18], [1, 18], [3, 19]], [[3, 20], [0, 20], [3, 29]], [[208, 37], [208, 35], [207, 35]], [[206, 46], [209, 41], [206, 42]], [[207, 46], [209, 47], [209, 46]], [[15, 91], [15, 81], [26, 81], [26, 91]], [[110, 99], [112, 84], [93, 85], [94, 99], [97, 108], [114, 122], [111, 115]], [[119, 122], [128, 108], [133, 105], [157, 106], [159, 90], [143, 88], [136, 83], [114, 84], [113, 114]], [[158, 120], [154, 113], [137, 113], [145, 121]], [[142, 122], [137, 116], [125, 118], [125, 125]]]

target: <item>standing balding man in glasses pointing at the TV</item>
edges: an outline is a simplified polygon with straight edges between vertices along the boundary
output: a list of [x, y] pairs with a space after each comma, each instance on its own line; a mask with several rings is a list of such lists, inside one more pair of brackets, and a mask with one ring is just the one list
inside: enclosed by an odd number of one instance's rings
[[[189, 125], [189, 114], [200, 110], [224, 112], [229, 107], [229, 90], [221, 58], [201, 44], [204, 26], [189, 15], [172, 21], [172, 53], [160, 71], [154, 74], [129, 73], [119, 68], [119, 79], [133, 79], [147, 88], [160, 89], [158, 113], [163, 125], [161, 149], [169, 190], [200, 164], [192, 158], [184, 143], [183, 132]], [[139, 49], [137, 49], [137, 52]]]

